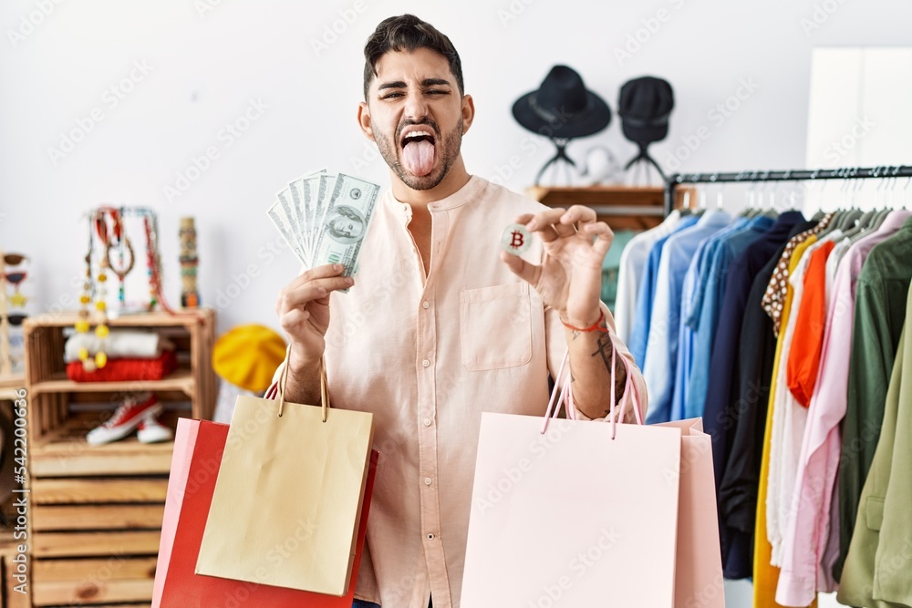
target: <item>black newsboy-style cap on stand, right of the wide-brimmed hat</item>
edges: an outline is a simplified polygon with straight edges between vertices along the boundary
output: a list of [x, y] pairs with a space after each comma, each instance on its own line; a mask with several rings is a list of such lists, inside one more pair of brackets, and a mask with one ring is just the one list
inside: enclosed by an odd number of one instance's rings
[[651, 76], [627, 81], [617, 100], [624, 137], [636, 143], [665, 139], [668, 115], [674, 107], [674, 93], [668, 81]]

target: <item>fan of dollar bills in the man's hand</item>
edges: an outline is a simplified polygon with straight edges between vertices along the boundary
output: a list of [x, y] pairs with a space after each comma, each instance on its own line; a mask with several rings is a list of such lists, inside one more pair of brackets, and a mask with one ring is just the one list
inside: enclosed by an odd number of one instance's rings
[[352, 276], [379, 190], [375, 183], [319, 170], [277, 192], [266, 212], [307, 268], [340, 263]]

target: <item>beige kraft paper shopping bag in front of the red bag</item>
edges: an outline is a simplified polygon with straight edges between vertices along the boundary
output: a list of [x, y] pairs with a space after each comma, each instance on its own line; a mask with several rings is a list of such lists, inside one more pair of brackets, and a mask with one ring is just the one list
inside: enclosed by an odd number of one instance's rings
[[197, 574], [344, 595], [373, 441], [369, 413], [237, 399]]

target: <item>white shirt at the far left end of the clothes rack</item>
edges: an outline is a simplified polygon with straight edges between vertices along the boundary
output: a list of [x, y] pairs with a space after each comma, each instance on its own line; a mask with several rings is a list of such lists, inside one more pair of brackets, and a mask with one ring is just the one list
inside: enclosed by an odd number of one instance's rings
[[621, 252], [621, 261], [617, 270], [617, 296], [615, 298], [615, 326], [617, 337], [627, 342], [634, 325], [634, 314], [637, 309], [637, 294], [646, 273], [649, 250], [662, 237], [674, 232], [681, 220], [681, 212], [671, 211], [665, 221], [652, 230], [640, 232], [627, 242]]

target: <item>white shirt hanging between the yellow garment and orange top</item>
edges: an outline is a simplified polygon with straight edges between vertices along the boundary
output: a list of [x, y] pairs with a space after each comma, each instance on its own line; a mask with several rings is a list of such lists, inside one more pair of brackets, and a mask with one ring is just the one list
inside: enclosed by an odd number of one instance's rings
[[799, 407], [794, 400], [789, 386], [785, 382], [786, 362], [793, 347], [793, 335], [804, 296], [804, 273], [808, 258], [805, 252], [810, 249], [817, 237], [809, 235], [794, 248], [792, 260], [788, 266], [788, 293], [786, 300], [791, 300], [790, 314], [787, 318], [781, 315], [780, 335], [782, 347], [779, 349], [780, 365], [772, 394], [773, 417], [772, 438], [770, 447], [770, 478], [767, 480], [766, 496], [766, 529], [767, 540], [772, 546], [772, 565], [782, 564], [782, 539], [788, 525], [788, 509], [792, 506], [794, 489], [794, 469], [797, 466], [798, 452], [801, 449], [804, 422], [807, 410]]

